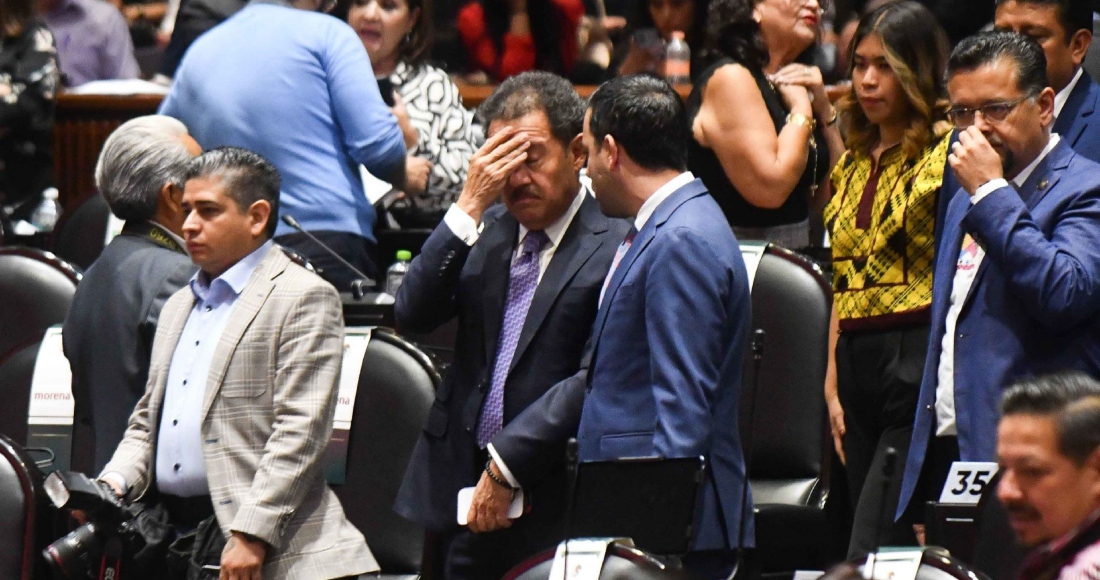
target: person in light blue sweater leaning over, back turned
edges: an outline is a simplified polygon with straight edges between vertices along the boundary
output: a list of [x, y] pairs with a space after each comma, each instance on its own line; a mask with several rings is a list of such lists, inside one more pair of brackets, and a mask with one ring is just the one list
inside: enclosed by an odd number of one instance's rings
[[[184, 121], [205, 150], [270, 160], [283, 176], [283, 215], [374, 276], [374, 208], [356, 165], [399, 188], [405, 140], [359, 36], [316, 13], [327, 3], [255, 0], [213, 28], [188, 50], [161, 113]], [[359, 277], [288, 226], [276, 234], [338, 289]]]

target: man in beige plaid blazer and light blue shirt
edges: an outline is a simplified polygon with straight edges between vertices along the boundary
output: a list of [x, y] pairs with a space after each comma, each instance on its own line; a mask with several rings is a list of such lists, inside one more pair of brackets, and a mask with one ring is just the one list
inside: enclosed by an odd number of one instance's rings
[[279, 178], [252, 152], [197, 157], [184, 239], [200, 272], [164, 306], [148, 384], [101, 479], [183, 526], [217, 515], [221, 579], [377, 570], [321, 474], [343, 325], [336, 289], [271, 241]]

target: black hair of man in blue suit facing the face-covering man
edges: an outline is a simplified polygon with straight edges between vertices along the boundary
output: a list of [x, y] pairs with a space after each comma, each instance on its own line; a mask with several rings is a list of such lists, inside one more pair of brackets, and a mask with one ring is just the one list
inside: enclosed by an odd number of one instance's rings
[[588, 97], [588, 129], [596, 143], [612, 135], [647, 169], [688, 167], [688, 113], [672, 87], [650, 75], [617, 77]]

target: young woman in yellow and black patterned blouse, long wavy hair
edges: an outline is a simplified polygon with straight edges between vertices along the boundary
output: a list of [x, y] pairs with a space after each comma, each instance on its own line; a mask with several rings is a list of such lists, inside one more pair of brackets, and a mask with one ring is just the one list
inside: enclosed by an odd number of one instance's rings
[[[848, 151], [825, 208], [833, 243], [833, 322], [825, 380], [833, 441], [845, 460], [855, 525], [849, 556], [912, 544], [904, 524], [878, 538], [901, 478], [883, 492], [887, 449], [904, 461], [928, 347], [936, 199], [947, 162], [947, 40], [919, 2], [859, 21], [851, 88], [837, 109]], [[886, 493], [886, 496], [883, 496]]]

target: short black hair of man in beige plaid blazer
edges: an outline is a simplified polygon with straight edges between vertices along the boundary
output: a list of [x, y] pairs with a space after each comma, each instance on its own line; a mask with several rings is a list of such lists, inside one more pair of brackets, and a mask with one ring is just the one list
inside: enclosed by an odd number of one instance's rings
[[275, 236], [278, 225], [278, 190], [282, 187], [278, 169], [258, 153], [241, 147], [218, 147], [191, 160], [187, 165], [186, 180], [213, 177], [221, 182], [222, 190], [237, 203], [241, 211], [260, 200], [272, 206], [264, 233]]

